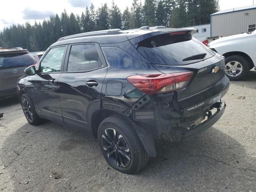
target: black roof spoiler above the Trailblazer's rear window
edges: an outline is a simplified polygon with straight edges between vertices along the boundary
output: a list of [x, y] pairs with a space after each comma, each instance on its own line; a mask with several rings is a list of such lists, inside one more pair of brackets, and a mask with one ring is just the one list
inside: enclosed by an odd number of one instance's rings
[[196, 32], [195, 28], [179, 28], [179, 29], [173, 29], [173, 28], [165, 28], [165, 29], [157, 29], [157, 30], [149, 30], [147, 34], [143, 34], [141, 36], [138, 36], [138, 32], [134, 33], [128, 33], [126, 36], [128, 40], [132, 43], [132, 45], [135, 48], [138, 48], [138, 44], [150, 37], [157, 36], [157, 35], [162, 35], [166, 33], [178, 33], [178, 32], [186, 32], [189, 33], [190, 35], [194, 34]]

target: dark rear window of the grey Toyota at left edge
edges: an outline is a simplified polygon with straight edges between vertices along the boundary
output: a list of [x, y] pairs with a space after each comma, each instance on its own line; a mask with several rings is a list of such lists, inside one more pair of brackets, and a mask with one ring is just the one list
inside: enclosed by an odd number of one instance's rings
[[0, 55], [0, 70], [27, 67], [36, 62], [36, 59], [29, 53], [4, 54]]

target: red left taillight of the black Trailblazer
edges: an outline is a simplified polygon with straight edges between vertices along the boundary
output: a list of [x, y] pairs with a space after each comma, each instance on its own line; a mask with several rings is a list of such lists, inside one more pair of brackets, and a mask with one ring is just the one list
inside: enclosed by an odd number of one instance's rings
[[145, 94], [172, 92], [184, 88], [193, 76], [193, 72], [172, 74], [132, 75], [127, 80]]

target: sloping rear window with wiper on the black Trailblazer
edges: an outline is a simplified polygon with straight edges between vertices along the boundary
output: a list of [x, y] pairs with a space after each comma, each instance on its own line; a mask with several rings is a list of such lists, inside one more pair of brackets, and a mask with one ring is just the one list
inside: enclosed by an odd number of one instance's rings
[[190, 34], [168, 33], [139, 43], [138, 51], [152, 64], [185, 65], [214, 56], [204, 44]]

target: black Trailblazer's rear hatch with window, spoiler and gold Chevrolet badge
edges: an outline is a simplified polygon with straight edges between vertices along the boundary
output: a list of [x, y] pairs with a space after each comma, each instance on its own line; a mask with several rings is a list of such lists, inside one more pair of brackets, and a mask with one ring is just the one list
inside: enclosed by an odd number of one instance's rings
[[213, 96], [221, 97], [220, 92], [229, 81], [225, 78], [224, 59], [193, 38], [193, 32], [188, 29], [156, 33], [150, 37], [147, 34], [145, 38], [140, 36], [130, 42], [164, 74], [193, 72], [190, 82], [185, 88], [176, 90], [176, 95], [183, 109], [195, 106], [199, 110], [209, 106]]

